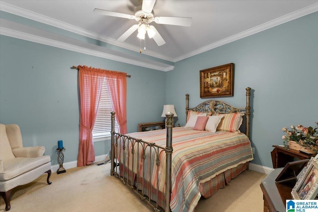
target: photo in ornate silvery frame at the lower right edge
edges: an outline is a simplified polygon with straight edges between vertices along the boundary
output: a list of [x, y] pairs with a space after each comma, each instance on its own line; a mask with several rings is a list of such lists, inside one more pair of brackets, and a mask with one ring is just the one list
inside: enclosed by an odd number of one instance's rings
[[314, 200], [318, 194], [318, 161], [310, 159], [292, 190], [294, 200]]

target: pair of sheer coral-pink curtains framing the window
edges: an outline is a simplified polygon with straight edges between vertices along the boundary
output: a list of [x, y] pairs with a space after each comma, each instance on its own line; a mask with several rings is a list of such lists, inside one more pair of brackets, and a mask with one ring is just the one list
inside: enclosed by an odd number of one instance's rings
[[116, 112], [116, 120], [121, 131], [127, 133], [126, 73], [79, 66], [80, 117], [78, 166], [90, 165], [95, 160], [92, 130], [97, 116], [104, 78], [109, 83], [114, 104], [113, 108]]

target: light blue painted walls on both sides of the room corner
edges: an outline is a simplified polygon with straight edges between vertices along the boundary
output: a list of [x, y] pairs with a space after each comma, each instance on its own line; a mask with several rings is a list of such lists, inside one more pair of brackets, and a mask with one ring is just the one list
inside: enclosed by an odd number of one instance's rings
[[[174, 104], [176, 123], [185, 124], [185, 94], [190, 107], [200, 99], [199, 71], [235, 64], [234, 96], [245, 106], [252, 88], [253, 163], [272, 167], [272, 145], [282, 144], [283, 127], [318, 121], [318, 12], [175, 63], [173, 71], [155, 71], [55, 47], [0, 36], [0, 122], [16, 123], [26, 146], [44, 145], [57, 164], [57, 141], [67, 148], [65, 162], [77, 160], [79, 140], [78, 73], [86, 65], [131, 74], [127, 79], [128, 132], [138, 123], [161, 121], [162, 105]], [[109, 141], [95, 142], [96, 155]]]

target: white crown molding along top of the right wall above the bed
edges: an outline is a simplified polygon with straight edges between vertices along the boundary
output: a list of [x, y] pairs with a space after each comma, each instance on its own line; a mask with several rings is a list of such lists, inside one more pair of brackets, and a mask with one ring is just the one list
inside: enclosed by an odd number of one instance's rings
[[230, 36], [228, 38], [225, 38], [223, 40], [217, 41], [215, 43], [212, 43], [212, 44], [207, 45], [205, 47], [202, 47], [200, 49], [194, 50], [194, 51], [192, 51], [192, 52], [190, 52], [188, 54], [181, 55], [180, 57], [175, 58], [174, 62], [178, 62], [178, 61], [184, 60], [186, 58], [198, 55], [200, 53], [209, 51], [211, 49], [215, 49], [215, 48], [217, 48], [219, 46], [223, 46], [225, 44], [228, 44], [228, 43], [231, 43], [233, 41], [239, 40], [241, 38], [245, 38], [247, 36], [253, 35], [255, 33], [264, 31], [266, 29], [272, 28], [274, 26], [286, 23], [288, 21], [294, 20], [296, 18], [300, 18], [302, 16], [305, 16], [305, 15], [308, 15], [308, 14], [311, 14], [311, 13], [317, 12], [317, 11], [318, 11], [318, 3], [312, 4], [312, 5], [308, 6], [308, 7], [303, 8], [303, 9], [299, 9], [299, 10], [297, 10], [295, 12], [286, 14], [286, 15], [281, 16], [279, 18], [276, 18], [274, 20], [268, 21], [268, 22], [266, 22], [264, 24], [261, 24], [261, 25], [258, 25], [256, 27], [253, 27], [251, 29], [248, 29], [248, 30], [245, 30], [243, 32], [240, 32], [240, 33], [238, 33], [236, 35]]

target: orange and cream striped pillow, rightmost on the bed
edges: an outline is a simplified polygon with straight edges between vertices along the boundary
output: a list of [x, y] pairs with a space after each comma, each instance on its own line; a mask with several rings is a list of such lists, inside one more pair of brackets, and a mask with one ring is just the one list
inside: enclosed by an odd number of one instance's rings
[[239, 131], [239, 127], [241, 126], [243, 119], [242, 116], [244, 113], [225, 113], [225, 114], [218, 114], [223, 115], [223, 119], [219, 124], [217, 131], [230, 131], [230, 132], [237, 132]]

